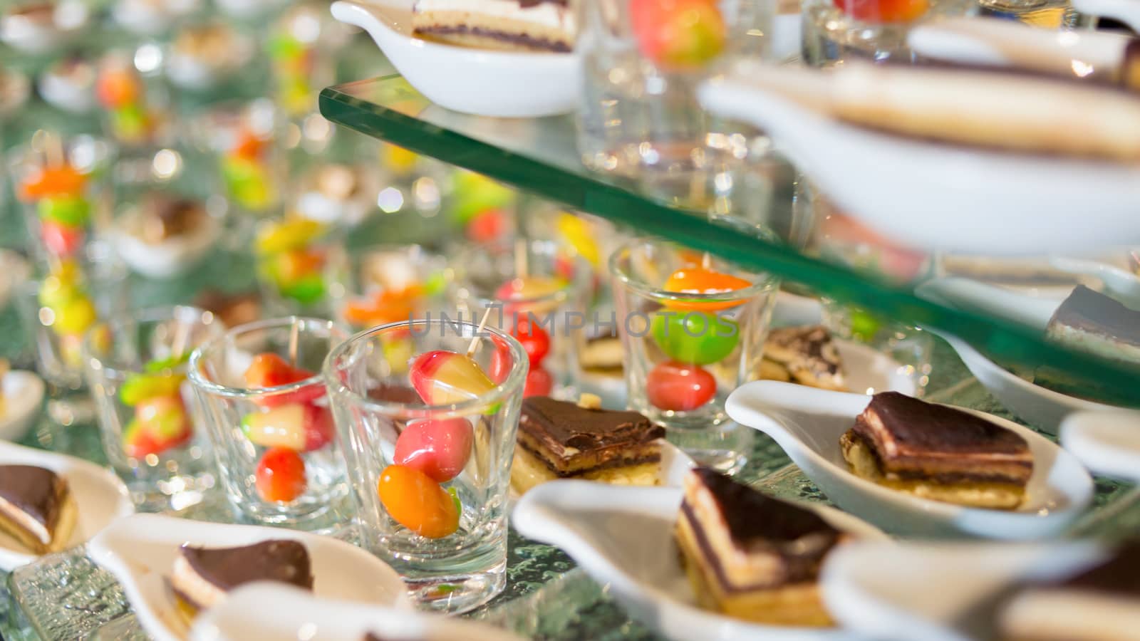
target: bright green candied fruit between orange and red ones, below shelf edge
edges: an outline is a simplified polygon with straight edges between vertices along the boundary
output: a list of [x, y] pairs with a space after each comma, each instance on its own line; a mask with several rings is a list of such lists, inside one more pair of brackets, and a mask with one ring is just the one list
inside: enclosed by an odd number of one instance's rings
[[718, 363], [740, 343], [735, 320], [707, 311], [659, 311], [651, 330], [661, 351], [677, 363]]

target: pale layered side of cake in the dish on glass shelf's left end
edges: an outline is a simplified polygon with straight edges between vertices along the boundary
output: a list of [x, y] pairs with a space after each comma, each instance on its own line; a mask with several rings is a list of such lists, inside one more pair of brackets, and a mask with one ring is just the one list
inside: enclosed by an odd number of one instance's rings
[[412, 26], [416, 35], [478, 49], [565, 52], [573, 48], [561, 29], [471, 11], [422, 11], [413, 16]]

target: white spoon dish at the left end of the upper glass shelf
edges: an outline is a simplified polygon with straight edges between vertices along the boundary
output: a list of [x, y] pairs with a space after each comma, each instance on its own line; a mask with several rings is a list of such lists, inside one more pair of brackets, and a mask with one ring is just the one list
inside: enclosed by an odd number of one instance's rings
[[451, 111], [497, 117], [559, 115], [578, 107], [573, 54], [491, 51], [412, 35], [412, 0], [332, 5], [333, 17], [368, 32], [401, 75]]

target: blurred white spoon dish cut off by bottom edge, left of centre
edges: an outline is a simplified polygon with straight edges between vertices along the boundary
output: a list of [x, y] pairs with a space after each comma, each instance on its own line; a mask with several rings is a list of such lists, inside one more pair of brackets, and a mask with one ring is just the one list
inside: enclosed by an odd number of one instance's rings
[[369, 632], [384, 641], [521, 641], [504, 630], [462, 618], [321, 599], [276, 583], [235, 590], [197, 617], [190, 639], [360, 641]]

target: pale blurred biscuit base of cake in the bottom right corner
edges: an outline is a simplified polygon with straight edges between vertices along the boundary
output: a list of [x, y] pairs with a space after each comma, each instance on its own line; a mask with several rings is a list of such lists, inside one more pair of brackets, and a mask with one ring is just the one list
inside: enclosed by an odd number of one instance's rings
[[1066, 589], [1027, 590], [1001, 615], [1009, 641], [1129, 641], [1140, 631], [1135, 599]]

